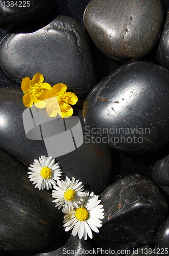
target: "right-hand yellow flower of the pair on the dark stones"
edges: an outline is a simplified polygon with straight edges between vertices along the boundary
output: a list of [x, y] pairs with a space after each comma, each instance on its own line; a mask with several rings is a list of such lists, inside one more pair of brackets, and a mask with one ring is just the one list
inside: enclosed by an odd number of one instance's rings
[[[66, 90], [66, 84], [57, 83], [51, 90], [42, 93], [48, 116], [55, 117], [57, 114], [63, 118], [72, 116], [73, 109], [69, 104], [76, 104], [78, 98], [74, 93], [66, 92]], [[44, 102], [39, 102], [37, 108], [42, 108]]]

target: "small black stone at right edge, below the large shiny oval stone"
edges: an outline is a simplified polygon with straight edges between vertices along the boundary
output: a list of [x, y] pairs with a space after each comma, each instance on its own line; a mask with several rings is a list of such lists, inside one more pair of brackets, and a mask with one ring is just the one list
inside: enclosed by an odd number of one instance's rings
[[153, 167], [152, 180], [157, 184], [169, 186], [169, 155], [158, 160]]

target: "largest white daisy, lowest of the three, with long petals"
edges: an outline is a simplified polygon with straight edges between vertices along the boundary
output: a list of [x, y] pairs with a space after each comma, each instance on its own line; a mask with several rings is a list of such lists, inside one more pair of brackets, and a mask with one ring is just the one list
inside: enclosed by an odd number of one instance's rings
[[89, 191], [86, 191], [86, 196], [78, 208], [73, 210], [65, 209], [63, 210], [64, 217], [64, 227], [65, 231], [69, 231], [73, 228], [72, 234], [76, 236], [78, 232], [78, 237], [82, 237], [87, 240], [87, 235], [92, 239], [92, 231], [99, 232], [97, 227], [101, 227], [101, 220], [104, 218], [103, 205], [99, 204], [99, 196], [95, 196], [93, 192], [89, 195]]

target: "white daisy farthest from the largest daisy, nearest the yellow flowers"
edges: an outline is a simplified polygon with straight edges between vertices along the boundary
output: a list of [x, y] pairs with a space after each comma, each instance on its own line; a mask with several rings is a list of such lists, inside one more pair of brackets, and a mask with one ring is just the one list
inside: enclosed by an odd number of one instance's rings
[[51, 185], [57, 184], [54, 180], [59, 180], [61, 176], [60, 166], [58, 163], [54, 163], [55, 160], [52, 157], [39, 157], [34, 160], [33, 164], [30, 164], [31, 167], [28, 167], [32, 172], [28, 172], [30, 176], [28, 177], [30, 181], [33, 181], [32, 184], [36, 184], [35, 187], [39, 189], [49, 189], [52, 188]]

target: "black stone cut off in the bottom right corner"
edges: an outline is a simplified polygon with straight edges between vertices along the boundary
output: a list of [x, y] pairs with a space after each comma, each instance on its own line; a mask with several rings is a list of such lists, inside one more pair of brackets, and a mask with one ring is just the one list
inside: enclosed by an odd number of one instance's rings
[[[160, 225], [155, 239], [155, 247], [159, 248], [161, 254], [165, 254], [165, 248], [169, 248], [169, 217], [167, 217]], [[164, 248], [164, 251], [162, 251]], [[163, 252], [163, 253], [162, 253]], [[169, 254], [169, 251], [166, 255]]]

